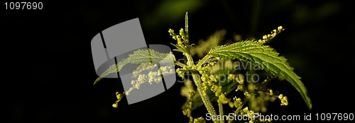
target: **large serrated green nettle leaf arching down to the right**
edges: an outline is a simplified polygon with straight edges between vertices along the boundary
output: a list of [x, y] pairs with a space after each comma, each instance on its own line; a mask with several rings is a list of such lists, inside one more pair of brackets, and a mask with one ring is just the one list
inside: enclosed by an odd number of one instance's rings
[[307, 93], [307, 89], [300, 81], [300, 76], [293, 72], [293, 68], [286, 64], [287, 59], [278, 57], [278, 52], [273, 52], [273, 48], [263, 45], [261, 42], [246, 40], [235, 42], [231, 45], [214, 47], [209, 51], [213, 57], [222, 59], [242, 59], [256, 64], [261, 69], [269, 71], [276, 76], [280, 76], [289, 81], [302, 95], [308, 108], [312, 109], [312, 102]]

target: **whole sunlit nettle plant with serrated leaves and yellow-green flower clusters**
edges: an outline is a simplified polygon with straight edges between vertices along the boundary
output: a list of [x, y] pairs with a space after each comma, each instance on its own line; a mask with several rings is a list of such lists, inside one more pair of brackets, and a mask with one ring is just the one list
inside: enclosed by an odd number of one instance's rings
[[[135, 71], [133, 77], [136, 81], [131, 81], [133, 87], [124, 93], [116, 93], [117, 100], [112, 105], [118, 107], [118, 102], [133, 89], [139, 89], [142, 83], [159, 83], [162, 75], [175, 74], [173, 68], [177, 66], [176, 73], [185, 80], [185, 86], [182, 87], [181, 95], [187, 97], [187, 101], [182, 105], [182, 113], [190, 118], [190, 122], [206, 122], [205, 120], [213, 120], [213, 122], [233, 122], [238, 120], [239, 116], [249, 117], [249, 122], [271, 122], [271, 119], [262, 119], [256, 115], [257, 112], [266, 112], [268, 101], [280, 100], [280, 105], [288, 105], [288, 97], [268, 88], [268, 83], [275, 79], [281, 78], [290, 82], [300, 93], [307, 107], [311, 110], [312, 103], [307, 89], [300, 81], [300, 77], [293, 72], [293, 68], [286, 63], [284, 57], [279, 57], [278, 52], [273, 48], [265, 45], [275, 35], [283, 31], [283, 27], [279, 26], [272, 30], [271, 34], [264, 35], [261, 40], [240, 40], [229, 45], [219, 45], [211, 47], [210, 44], [217, 45], [225, 32], [219, 31], [210, 37], [206, 42], [209, 45], [200, 43], [199, 46], [190, 45], [188, 18], [185, 14], [185, 30], [180, 29], [179, 35], [174, 30], [168, 32], [178, 44], [173, 44], [177, 52], [182, 52], [185, 59], [175, 59], [170, 53], [160, 53], [153, 49], [138, 49], [130, 54], [127, 59], [123, 59], [118, 64], [110, 66], [94, 83], [100, 81], [104, 76], [116, 73], [126, 64], [140, 64]], [[211, 39], [214, 38], [214, 39]], [[193, 47], [192, 47], [193, 46]], [[197, 54], [198, 49], [207, 49], [209, 51], [199, 61], [193, 61], [192, 53]], [[149, 55], [146, 55], [149, 54]], [[158, 71], [149, 71], [153, 69], [157, 63], [168, 62], [168, 55], [173, 58], [173, 66], [162, 66]], [[232, 62], [234, 61], [234, 62]], [[247, 66], [249, 64], [249, 66]], [[247, 69], [249, 68], [249, 69]], [[244, 71], [243, 71], [244, 70]], [[263, 74], [256, 74], [256, 70], [261, 70]], [[149, 71], [149, 74], [140, 74], [142, 71]], [[246, 73], [246, 74], [243, 74]], [[185, 79], [185, 76], [192, 76], [195, 83], [195, 90], [192, 81]], [[259, 76], [263, 75], [263, 76]], [[264, 79], [262, 79], [264, 78]], [[263, 80], [258, 82], [259, 80]], [[249, 102], [249, 106], [247, 105]], [[212, 103], [217, 103], [218, 112], [214, 109]], [[192, 110], [204, 105], [207, 108], [206, 119], [203, 117], [193, 118]], [[233, 112], [224, 115], [224, 107], [231, 108]]]

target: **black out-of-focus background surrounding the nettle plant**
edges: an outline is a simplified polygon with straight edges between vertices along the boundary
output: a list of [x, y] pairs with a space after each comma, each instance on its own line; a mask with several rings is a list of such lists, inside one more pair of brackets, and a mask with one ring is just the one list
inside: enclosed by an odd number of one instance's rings
[[[179, 3], [177, 1], [176, 3]], [[175, 42], [168, 29], [184, 27], [189, 11], [190, 40], [197, 43], [215, 30], [226, 38], [246, 40], [283, 25], [268, 45], [288, 59], [309, 90], [313, 109], [287, 81], [271, 88], [287, 95], [290, 105], [275, 101], [266, 114], [301, 115], [354, 112], [352, 49], [355, 19], [351, 1], [201, 1], [161, 8], [168, 1], [43, 2], [42, 10], [1, 7], [1, 120], [4, 122], [188, 122], [180, 106], [183, 83], [154, 98], [112, 108], [118, 79], [98, 77], [90, 42], [100, 31], [139, 18], [148, 44]], [[185, 4], [184, 4], [185, 3]], [[181, 6], [181, 7], [180, 7]], [[190, 7], [189, 7], [190, 6]], [[173, 10], [173, 11], [171, 11]], [[171, 47], [173, 48], [173, 47]], [[176, 52], [177, 54], [180, 54]], [[182, 57], [182, 55], [176, 55]], [[197, 60], [197, 58], [195, 59]], [[204, 107], [194, 117], [204, 116]], [[302, 117], [301, 117], [302, 118]], [[319, 121], [318, 121], [319, 122]]]

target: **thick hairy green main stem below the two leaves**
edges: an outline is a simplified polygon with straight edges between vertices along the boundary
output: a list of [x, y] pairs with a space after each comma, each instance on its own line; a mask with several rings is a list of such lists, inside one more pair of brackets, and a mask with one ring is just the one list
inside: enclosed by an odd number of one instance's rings
[[[203, 93], [203, 88], [202, 88], [202, 81], [200, 78], [200, 75], [198, 74], [197, 71], [191, 71], [192, 74], [192, 78], [195, 81], [195, 84], [197, 86], [197, 90], [200, 93], [200, 96], [202, 98], [202, 102], [204, 103], [204, 106], [206, 106], [207, 111], [209, 112], [209, 115], [211, 116], [217, 116], [216, 115], [216, 111], [214, 110], [214, 108], [212, 107], [211, 102], [209, 102], [209, 97], [207, 96], [206, 93]], [[218, 120], [214, 120], [214, 123], [218, 123]]]

